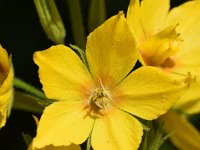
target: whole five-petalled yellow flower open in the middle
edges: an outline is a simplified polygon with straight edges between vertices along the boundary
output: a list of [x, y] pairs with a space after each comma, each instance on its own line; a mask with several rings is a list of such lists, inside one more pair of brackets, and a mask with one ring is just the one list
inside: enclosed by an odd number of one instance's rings
[[63, 45], [34, 54], [46, 96], [58, 100], [44, 110], [35, 148], [81, 144], [91, 136], [95, 150], [137, 149], [143, 128], [134, 116], [156, 119], [186, 88], [157, 68], [130, 73], [138, 53], [123, 13], [88, 36], [86, 58], [89, 70]]

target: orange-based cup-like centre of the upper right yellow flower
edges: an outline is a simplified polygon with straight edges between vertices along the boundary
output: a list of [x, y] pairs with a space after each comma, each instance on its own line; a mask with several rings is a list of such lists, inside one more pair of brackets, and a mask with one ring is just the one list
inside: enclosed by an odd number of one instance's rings
[[180, 51], [181, 39], [176, 27], [166, 28], [142, 43], [140, 51], [146, 65], [171, 67], [170, 57]]

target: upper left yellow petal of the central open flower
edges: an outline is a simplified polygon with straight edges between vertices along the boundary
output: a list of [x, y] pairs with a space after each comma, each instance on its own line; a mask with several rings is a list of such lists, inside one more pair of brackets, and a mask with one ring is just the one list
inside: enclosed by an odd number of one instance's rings
[[79, 57], [64, 45], [52, 46], [34, 54], [39, 77], [47, 97], [56, 100], [80, 100], [92, 79]]

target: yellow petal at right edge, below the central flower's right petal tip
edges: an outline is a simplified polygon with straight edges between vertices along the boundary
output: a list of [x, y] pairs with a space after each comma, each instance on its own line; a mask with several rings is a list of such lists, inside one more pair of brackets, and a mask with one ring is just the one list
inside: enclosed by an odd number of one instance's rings
[[187, 114], [200, 113], [200, 83], [194, 83], [190, 88], [181, 96], [175, 104], [175, 108], [180, 109]]

